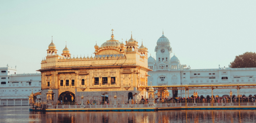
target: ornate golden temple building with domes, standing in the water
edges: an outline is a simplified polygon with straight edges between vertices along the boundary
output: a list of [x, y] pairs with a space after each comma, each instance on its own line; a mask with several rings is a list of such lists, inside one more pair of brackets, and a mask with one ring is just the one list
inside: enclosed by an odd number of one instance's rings
[[[111, 39], [94, 46], [94, 57], [71, 57], [67, 47], [61, 55], [53, 41], [47, 49], [46, 59], [41, 61], [42, 101], [54, 102], [101, 102], [140, 100], [147, 98], [147, 91], [140, 86], [147, 86], [148, 51], [131, 36], [129, 41], [120, 43]], [[84, 54], [84, 53], [83, 53]], [[49, 97], [47, 94], [52, 94]]]

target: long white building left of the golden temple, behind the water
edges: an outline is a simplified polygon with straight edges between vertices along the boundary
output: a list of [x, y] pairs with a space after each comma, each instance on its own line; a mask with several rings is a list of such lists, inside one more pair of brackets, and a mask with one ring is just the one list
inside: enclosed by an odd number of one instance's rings
[[[16, 67], [0, 68], [0, 105], [29, 105], [29, 95], [41, 91], [41, 73], [16, 74]], [[40, 96], [37, 96], [40, 98]]]

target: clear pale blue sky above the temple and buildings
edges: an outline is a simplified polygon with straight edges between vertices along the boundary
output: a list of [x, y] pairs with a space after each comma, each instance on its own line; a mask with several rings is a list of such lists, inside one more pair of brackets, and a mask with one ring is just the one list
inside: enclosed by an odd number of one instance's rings
[[72, 56], [91, 55], [111, 28], [119, 41], [132, 31], [152, 56], [164, 30], [181, 64], [227, 67], [235, 55], [256, 52], [255, 6], [255, 0], [1, 0], [0, 67], [35, 73], [52, 36], [59, 55], [65, 41]]

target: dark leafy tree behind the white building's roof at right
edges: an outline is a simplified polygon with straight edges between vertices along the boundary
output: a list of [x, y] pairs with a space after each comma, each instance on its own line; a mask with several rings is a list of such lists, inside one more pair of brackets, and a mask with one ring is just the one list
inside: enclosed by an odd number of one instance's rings
[[235, 60], [230, 62], [231, 68], [256, 68], [256, 53], [246, 52], [235, 56]]

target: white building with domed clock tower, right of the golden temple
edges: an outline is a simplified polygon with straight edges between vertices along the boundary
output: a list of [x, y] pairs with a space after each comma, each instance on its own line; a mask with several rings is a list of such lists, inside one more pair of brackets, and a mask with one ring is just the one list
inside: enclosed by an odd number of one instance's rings
[[[148, 74], [148, 85], [200, 85], [200, 84], [245, 84], [256, 83], [256, 68], [216, 68], [216, 69], [190, 69], [185, 64], [181, 64], [178, 57], [172, 56], [172, 48], [169, 39], [162, 35], [157, 40], [155, 47], [156, 59], [149, 57], [148, 67], [153, 70]], [[170, 58], [170, 56], [172, 56]], [[211, 90], [195, 90], [198, 96], [211, 96]], [[185, 97], [185, 90], [174, 92], [169, 90], [170, 97]], [[194, 90], [190, 90], [189, 95], [193, 95]], [[229, 95], [230, 90], [214, 89], [213, 95]], [[232, 89], [233, 95], [237, 96], [237, 90]], [[240, 94], [248, 97], [256, 94], [256, 89], [240, 89]], [[256, 96], [256, 95], [255, 95]]]

